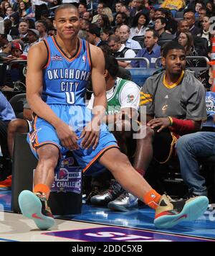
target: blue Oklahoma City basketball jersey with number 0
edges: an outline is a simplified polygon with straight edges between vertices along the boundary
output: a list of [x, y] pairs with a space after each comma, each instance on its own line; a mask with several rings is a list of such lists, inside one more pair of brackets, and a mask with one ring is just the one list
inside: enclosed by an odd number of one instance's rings
[[46, 40], [49, 60], [44, 67], [42, 99], [47, 104], [85, 106], [91, 76], [89, 44], [80, 40], [75, 57], [68, 58], [54, 37]]

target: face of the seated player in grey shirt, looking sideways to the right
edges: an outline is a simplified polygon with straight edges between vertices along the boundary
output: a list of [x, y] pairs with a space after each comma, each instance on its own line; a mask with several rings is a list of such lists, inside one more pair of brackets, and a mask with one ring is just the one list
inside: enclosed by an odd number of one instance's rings
[[166, 71], [171, 75], [181, 75], [186, 65], [186, 55], [183, 50], [169, 50], [166, 58], [162, 58], [162, 65], [166, 67]]

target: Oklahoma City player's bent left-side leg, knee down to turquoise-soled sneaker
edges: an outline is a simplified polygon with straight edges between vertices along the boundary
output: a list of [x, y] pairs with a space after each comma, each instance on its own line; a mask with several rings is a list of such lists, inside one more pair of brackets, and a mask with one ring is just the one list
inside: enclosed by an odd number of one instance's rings
[[39, 163], [34, 174], [34, 193], [22, 191], [19, 207], [22, 214], [33, 219], [39, 229], [54, 226], [54, 218], [47, 205], [49, 191], [54, 182], [54, 169], [59, 159], [59, 149], [54, 145], [44, 145], [37, 150]]

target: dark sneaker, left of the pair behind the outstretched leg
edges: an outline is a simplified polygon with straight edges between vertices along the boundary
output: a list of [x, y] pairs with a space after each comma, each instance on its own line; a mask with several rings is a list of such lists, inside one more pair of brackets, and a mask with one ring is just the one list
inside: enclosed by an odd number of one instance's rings
[[110, 201], [115, 200], [123, 192], [123, 188], [116, 180], [110, 181], [110, 187], [99, 193], [97, 196], [92, 196], [90, 199], [91, 204], [106, 206]]

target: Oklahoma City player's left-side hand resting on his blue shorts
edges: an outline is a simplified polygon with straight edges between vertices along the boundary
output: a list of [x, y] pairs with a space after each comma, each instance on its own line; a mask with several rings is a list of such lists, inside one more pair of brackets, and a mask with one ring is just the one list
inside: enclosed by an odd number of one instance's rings
[[66, 147], [68, 150], [79, 149], [77, 145], [78, 137], [68, 124], [60, 122], [55, 129], [63, 147]]

